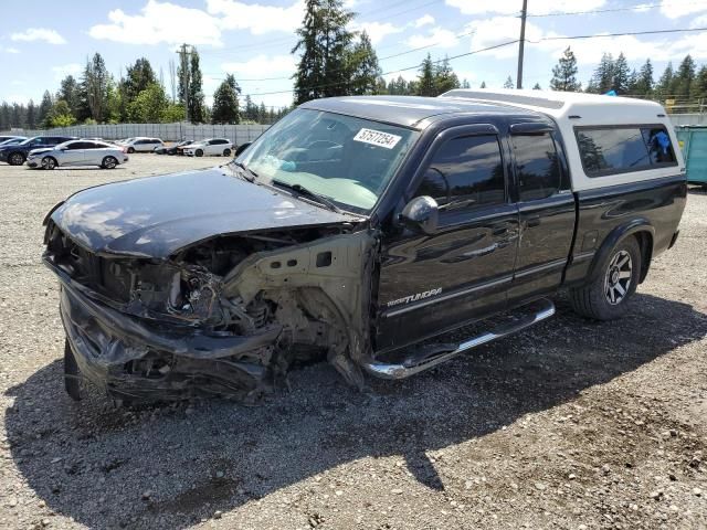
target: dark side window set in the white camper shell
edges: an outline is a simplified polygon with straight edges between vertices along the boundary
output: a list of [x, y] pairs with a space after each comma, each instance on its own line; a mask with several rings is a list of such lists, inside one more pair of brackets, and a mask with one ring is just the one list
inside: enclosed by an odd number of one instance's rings
[[675, 166], [675, 151], [665, 127], [589, 127], [576, 129], [582, 166], [588, 177], [603, 177]]

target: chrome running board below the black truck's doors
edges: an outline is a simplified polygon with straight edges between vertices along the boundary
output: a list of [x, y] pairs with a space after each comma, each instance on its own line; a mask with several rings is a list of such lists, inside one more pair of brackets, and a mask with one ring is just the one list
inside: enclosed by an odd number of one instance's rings
[[[525, 328], [529, 328], [542, 320], [550, 318], [555, 315], [555, 304], [552, 300], [542, 299], [535, 304], [539, 304], [539, 308], [529, 314], [527, 317], [518, 319], [515, 322], [500, 325], [490, 331], [486, 331], [482, 335], [473, 337], [460, 344], [445, 347], [443, 344], [432, 344], [432, 348], [428, 348], [428, 351], [418, 351], [416, 354], [412, 354], [405, 358], [400, 363], [384, 363], [384, 362], [367, 362], [363, 364], [363, 369], [371, 375], [376, 375], [381, 379], [404, 379], [415, 373], [429, 370], [436, 367], [442, 362], [471, 350], [478, 346], [490, 342], [492, 340], [500, 339], [508, 335], [516, 333]], [[454, 349], [455, 348], [455, 349]], [[442, 351], [440, 351], [442, 350]]]

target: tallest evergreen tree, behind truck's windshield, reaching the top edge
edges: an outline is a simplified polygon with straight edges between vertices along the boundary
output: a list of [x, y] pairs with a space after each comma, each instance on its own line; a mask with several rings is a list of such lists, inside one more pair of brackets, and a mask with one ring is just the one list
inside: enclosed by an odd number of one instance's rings
[[300, 52], [294, 75], [296, 105], [348, 93], [355, 33], [347, 26], [352, 19], [341, 0], [306, 0], [299, 40], [292, 50]]

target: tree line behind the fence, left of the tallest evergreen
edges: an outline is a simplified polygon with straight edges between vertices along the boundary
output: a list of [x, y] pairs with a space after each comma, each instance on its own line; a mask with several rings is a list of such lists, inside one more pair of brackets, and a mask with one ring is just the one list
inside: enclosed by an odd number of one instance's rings
[[[281, 118], [288, 108], [266, 108], [255, 105], [250, 96], [245, 106], [240, 105], [241, 89], [232, 75], [214, 93], [214, 105], [204, 103], [199, 53], [193, 50], [182, 68], [170, 63], [171, 96], [168, 95], [162, 73], [159, 76], [146, 57], [139, 57], [127, 66], [119, 80], [107, 71], [99, 53], [86, 61], [78, 78], [65, 76], [59, 89], [52, 94], [44, 91], [36, 105], [32, 99], [27, 105], [7, 102], [0, 104], [0, 130], [12, 127], [29, 129], [67, 127], [76, 124], [161, 124], [181, 121], [188, 106], [189, 118], [194, 124], [270, 124]], [[223, 100], [218, 97], [223, 86], [233, 86], [236, 96], [228, 102], [224, 114]]]

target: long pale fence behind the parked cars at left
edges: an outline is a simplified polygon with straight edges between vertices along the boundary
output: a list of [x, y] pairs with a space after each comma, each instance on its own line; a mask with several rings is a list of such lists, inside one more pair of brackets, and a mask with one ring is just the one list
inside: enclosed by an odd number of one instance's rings
[[[191, 124], [115, 124], [115, 125], [75, 125], [53, 129], [12, 129], [9, 134], [18, 136], [76, 136], [80, 138], [104, 138], [117, 140], [147, 136], [165, 141], [201, 140], [204, 138], [228, 138], [236, 145], [253, 141], [270, 125], [191, 125]], [[8, 134], [8, 132], [0, 132]]]

